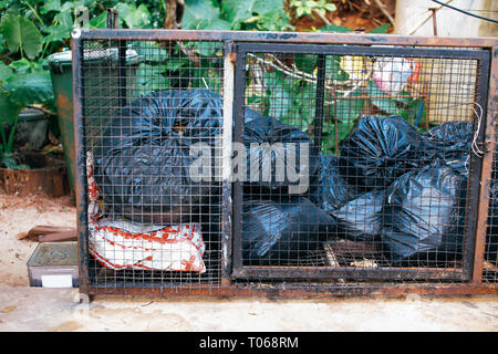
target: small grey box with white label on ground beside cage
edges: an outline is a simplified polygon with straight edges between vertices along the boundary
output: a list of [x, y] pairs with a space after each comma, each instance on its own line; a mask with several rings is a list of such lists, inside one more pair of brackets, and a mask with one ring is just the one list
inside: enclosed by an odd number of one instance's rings
[[28, 261], [31, 287], [77, 288], [77, 242], [40, 243]]

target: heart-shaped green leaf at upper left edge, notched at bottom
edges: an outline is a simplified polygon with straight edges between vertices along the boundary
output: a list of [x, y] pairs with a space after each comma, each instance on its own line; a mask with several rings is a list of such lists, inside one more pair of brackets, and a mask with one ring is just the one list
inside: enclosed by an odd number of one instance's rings
[[35, 59], [42, 50], [42, 34], [33, 22], [23, 17], [4, 14], [0, 22], [0, 32], [11, 53], [20, 49], [29, 59]]

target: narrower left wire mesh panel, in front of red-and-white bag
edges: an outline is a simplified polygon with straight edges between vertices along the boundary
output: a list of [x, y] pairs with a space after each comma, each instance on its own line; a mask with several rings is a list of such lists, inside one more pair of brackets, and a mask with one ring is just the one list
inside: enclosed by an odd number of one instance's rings
[[87, 277], [218, 287], [224, 43], [82, 43]]

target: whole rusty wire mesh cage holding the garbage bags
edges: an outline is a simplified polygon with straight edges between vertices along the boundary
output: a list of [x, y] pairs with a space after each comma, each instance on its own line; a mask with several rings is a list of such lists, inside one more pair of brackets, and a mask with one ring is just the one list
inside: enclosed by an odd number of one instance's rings
[[496, 39], [72, 40], [82, 293], [497, 292]]

